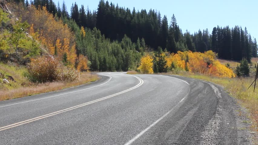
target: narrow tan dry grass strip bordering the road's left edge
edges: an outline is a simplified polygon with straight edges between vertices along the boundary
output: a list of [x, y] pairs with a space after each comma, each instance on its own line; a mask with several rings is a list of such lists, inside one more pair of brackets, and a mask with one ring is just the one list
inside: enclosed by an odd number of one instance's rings
[[20, 86], [9, 90], [2, 89], [0, 90], [0, 101], [56, 91], [76, 85], [86, 84], [87, 82], [94, 82], [96, 80], [98, 80], [98, 76], [96, 74], [91, 76], [89, 72], [82, 72], [80, 79], [77, 82], [34, 83], [30, 86]]

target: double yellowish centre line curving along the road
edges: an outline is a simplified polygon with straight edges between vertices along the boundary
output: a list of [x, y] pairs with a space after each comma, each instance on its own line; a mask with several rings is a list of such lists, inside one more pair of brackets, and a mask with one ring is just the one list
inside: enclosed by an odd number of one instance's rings
[[28, 120], [25, 120], [25, 121], [21, 121], [21, 122], [15, 123], [15, 124], [10, 124], [8, 126], [0, 127], [0, 131], [6, 130], [6, 129], [9, 129], [9, 128], [13, 128], [13, 127], [17, 127], [17, 126], [20, 126], [20, 125], [23, 125], [23, 124], [27, 124], [27, 123], [30, 123], [30, 122], [33, 122], [33, 121], [37, 121], [37, 120], [40, 120], [40, 119], [43, 119], [43, 118], [47, 118], [47, 117], [50, 117], [50, 116], [53, 116], [53, 115], [56, 115], [56, 114], [60, 114], [60, 113], [66, 112], [66, 111], [74, 110], [76, 108], [80, 108], [80, 107], [83, 107], [83, 106], [86, 106], [86, 105], [89, 105], [89, 104], [92, 104], [92, 103], [95, 103], [95, 102], [98, 102], [98, 101], [102, 101], [102, 100], [105, 100], [107, 98], [111, 98], [111, 97], [114, 97], [116, 95], [120, 95], [120, 94], [123, 94], [125, 92], [128, 92], [128, 91], [131, 91], [133, 89], [136, 89], [136, 88], [138, 88], [139, 86], [141, 86], [144, 83], [144, 81], [142, 79], [140, 79], [139, 77], [137, 77], [137, 76], [133, 76], [133, 77], [135, 77], [138, 80], [140, 80], [140, 83], [137, 84], [136, 86], [130, 88], [130, 89], [127, 89], [127, 90], [124, 90], [122, 92], [118, 92], [116, 94], [109, 95], [109, 96], [106, 96], [106, 97], [103, 97], [103, 98], [100, 98], [100, 99], [97, 99], [97, 100], [94, 100], [94, 101], [90, 101], [90, 102], [86, 102], [86, 103], [83, 103], [83, 104], [80, 104], [80, 105], [77, 105], [77, 106], [66, 108], [66, 109], [63, 109], [63, 110], [60, 110], [60, 111], [56, 111], [56, 112], [53, 112], [53, 113], [45, 114], [45, 115], [42, 115], [42, 116], [39, 116], [39, 117], [36, 117], [36, 118], [31, 118], [31, 119], [28, 119]]

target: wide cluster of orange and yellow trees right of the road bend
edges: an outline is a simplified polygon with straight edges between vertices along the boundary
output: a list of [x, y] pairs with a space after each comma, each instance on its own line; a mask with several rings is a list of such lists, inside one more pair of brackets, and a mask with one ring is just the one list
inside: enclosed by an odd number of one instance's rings
[[177, 54], [166, 55], [167, 66], [170, 67], [173, 63], [175, 68], [182, 70], [187, 69], [189, 72], [207, 74], [217, 77], [235, 77], [232, 69], [222, 65], [216, 60], [216, 53], [211, 50], [200, 53], [178, 51]]

